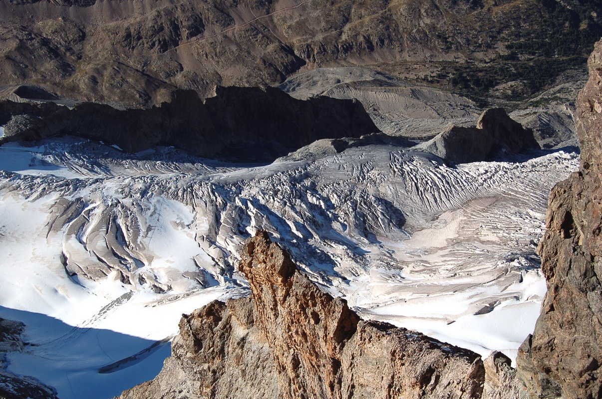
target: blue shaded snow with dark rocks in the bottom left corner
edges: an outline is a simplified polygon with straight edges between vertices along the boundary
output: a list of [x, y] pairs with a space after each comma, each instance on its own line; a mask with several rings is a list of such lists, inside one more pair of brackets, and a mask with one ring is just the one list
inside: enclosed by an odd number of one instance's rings
[[133, 381], [156, 376], [169, 354], [166, 340], [70, 326], [44, 314], [0, 306], [2, 399], [84, 398], [92, 392], [112, 397]]

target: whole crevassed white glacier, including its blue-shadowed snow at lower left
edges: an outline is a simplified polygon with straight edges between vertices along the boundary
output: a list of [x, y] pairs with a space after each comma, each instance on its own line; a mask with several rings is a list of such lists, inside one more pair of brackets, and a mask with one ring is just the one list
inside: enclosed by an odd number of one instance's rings
[[247, 293], [235, 265], [258, 229], [362, 317], [514, 359], [545, 294], [548, 193], [577, 162], [448, 167], [367, 146], [253, 166], [73, 138], [5, 144], [0, 317], [24, 321], [34, 344], [8, 354], [8, 371], [67, 399], [152, 379], [182, 313]]

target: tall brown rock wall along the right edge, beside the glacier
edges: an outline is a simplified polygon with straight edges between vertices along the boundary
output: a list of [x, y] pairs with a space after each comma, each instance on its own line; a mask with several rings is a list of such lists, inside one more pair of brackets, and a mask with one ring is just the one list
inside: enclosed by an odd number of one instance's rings
[[539, 244], [548, 293], [518, 370], [532, 398], [602, 397], [602, 41], [577, 99], [581, 167], [553, 188]]

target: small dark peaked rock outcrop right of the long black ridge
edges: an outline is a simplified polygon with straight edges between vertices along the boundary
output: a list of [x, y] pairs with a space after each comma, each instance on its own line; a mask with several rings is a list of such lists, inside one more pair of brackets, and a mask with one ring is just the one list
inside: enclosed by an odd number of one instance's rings
[[503, 108], [490, 108], [481, 114], [476, 127], [451, 126], [420, 147], [461, 164], [487, 161], [500, 152], [539, 149], [539, 144], [533, 131], [510, 119]]

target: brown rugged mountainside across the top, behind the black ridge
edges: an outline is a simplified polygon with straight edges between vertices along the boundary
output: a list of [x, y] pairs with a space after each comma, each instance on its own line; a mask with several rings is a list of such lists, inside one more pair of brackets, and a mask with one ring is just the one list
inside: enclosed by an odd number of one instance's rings
[[530, 94], [583, 66], [601, 11], [596, 0], [1, 0], [0, 85], [151, 105], [176, 88], [205, 97], [359, 65]]

